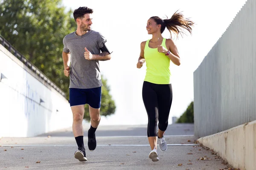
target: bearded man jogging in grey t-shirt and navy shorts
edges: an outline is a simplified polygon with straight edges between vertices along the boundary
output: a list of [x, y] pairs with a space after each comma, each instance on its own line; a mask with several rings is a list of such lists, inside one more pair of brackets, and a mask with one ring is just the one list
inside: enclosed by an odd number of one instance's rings
[[82, 126], [85, 104], [89, 105], [91, 120], [88, 130], [88, 148], [91, 151], [96, 148], [95, 131], [100, 122], [102, 86], [99, 61], [111, 59], [111, 53], [105, 45], [107, 41], [105, 37], [91, 30], [92, 14], [91, 8], [76, 9], [73, 16], [77, 29], [63, 39], [64, 74], [67, 77], [70, 76], [69, 102], [73, 113], [73, 133], [78, 145], [75, 158], [79, 161], [87, 161]]

